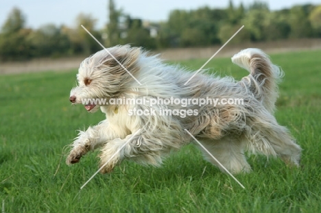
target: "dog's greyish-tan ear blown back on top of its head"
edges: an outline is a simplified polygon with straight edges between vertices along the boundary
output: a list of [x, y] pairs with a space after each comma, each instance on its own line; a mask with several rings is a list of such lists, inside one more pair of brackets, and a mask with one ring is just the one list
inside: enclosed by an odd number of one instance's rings
[[141, 49], [138, 47], [117, 46], [112, 47], [106, 51], [105, 58], [102, 59], [101, 64], [109, 67], [122, 67], [130, 69], [136, 64]]

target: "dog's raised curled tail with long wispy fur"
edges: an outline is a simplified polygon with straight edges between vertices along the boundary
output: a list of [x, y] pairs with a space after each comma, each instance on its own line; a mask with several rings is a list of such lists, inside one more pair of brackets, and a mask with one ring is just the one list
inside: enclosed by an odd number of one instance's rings
[[241, 82], [245, 83], [253, 95], [262, 101], [265, 108], [273, 113], [278, 97], [278, 82], [283, 77], [281, 68], [272, 64], [269, 56], [263, 51], [253, 48], [235, 54], [232, 62], [250, 72], [250, 75], [243, 77]]

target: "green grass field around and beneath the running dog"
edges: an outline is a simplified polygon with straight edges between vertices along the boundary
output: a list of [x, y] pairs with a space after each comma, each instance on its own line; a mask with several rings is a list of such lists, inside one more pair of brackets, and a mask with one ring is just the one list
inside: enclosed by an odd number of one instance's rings
[[[246, 187], [205, 162], [189, 145], [160, 168], [124, 162], [96, 175], [97, 152], [67, 166], [64, 148], [104, 119], [69, 103], [75, 73], [0, 76], [0, 209], [2, 212], [320, 212], [321, 51], [272, 55], [283, 67], [276, 118], [302, 147], [302, 168], [251, 156]], [[198, 69], [206, 60], [180, 62]], [[206, 67], [237, 79], [248, 75], [230, 59]]]

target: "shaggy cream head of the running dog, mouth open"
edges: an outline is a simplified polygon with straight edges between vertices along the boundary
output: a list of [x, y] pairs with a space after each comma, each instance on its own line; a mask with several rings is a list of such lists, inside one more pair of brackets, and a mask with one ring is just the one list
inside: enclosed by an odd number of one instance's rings
[[70, 92], [71, 103], [82, 103], [88, 112], [95, 112], [102, 103], [93, 100], [119, 97], [134, 81], [131, 75], [138, 72], [140, 53], [141, 49], [125, 45], [103, 49], [86, 58], [77, 74], [78, 86]]

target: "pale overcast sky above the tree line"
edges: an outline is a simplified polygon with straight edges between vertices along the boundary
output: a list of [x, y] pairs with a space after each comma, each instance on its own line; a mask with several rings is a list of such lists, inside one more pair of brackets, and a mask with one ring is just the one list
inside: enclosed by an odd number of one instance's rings
[[[233, 0], [234, 5], [248, 5], [254, 0]], [[226, 8], [228, 1], [219, 0], [115, 0], [117, 8], [134, 18], [150, 21], [165, 21], [174, 9], [191, 10], [208, 5], [211, 8]], [[269, 0], [271, 10], [289, 8], [296, 4], [320, 4], [320, 0]], [[12, 8], [23, 11], [27, 27], [37, 28], [54, 23], [75, 27], [75, 17], [80, 13], [91, 14], [97, 19], [97, 28], [108, 21], [108, 0], [0, 0], [0, 25], [2, 26]]]

